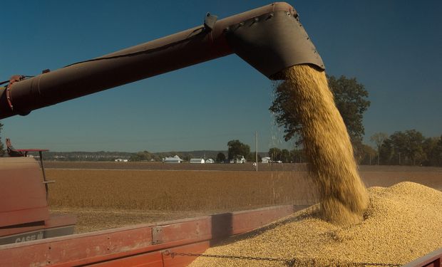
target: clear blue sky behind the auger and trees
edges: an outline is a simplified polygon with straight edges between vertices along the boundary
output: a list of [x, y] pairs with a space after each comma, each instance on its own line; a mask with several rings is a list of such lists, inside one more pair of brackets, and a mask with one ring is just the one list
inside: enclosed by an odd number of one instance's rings
[[[269, 1], [2, 1], [0, 80], [36, 75]], [[374, 132], [442, 134], [442, 1], [289, 1], [329, 75], [369, 91]], [[53, 151], [291, 147], [268, 108], [272, 82], [235, 55], [1, 120], [16, 147]]]

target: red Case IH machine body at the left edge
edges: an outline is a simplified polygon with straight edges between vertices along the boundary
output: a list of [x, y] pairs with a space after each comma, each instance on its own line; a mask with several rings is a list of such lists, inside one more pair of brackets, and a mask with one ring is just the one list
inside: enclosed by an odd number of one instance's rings
[[[0, 161], [0, 245], [73, 234], [73, 216], [49, 214], [48, 183], [41, 149], [16, 150], [6, 138], [9, 157]], [[38, 152], [41, 166], [29, 152]], [[40, 171], [41, 169], [41, 171]]]

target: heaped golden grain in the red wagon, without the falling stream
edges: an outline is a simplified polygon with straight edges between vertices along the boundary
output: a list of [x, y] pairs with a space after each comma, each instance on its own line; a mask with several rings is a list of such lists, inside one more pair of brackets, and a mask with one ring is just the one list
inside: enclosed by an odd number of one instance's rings
[[[364, 221], [337, 226], [299, 211], [205, 253], [295, 259], [294, 266], [404, 264], [442, 246], [442, 192], [412, 182], [371, 187]], [[190, 266], [284, 266], [271, 261], [199, 257]]]

